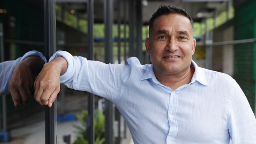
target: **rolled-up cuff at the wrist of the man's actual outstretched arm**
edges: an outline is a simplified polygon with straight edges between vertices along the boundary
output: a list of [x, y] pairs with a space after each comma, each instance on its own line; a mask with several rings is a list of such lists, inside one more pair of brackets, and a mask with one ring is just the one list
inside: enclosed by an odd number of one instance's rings
[[54, 53], [52, 57], [50, 57], [49, 62], [56, 57], [64, 57], [68, 63], [67, 71], [59, 78], [60, 83], [64, 83], [65, 81], [67, 81], [72, 77], [72, 70], [74, 69], [74, 59], [73, 59], [73, 56], [69, 54], [69, 52], [59, 50], [56, 53]]

